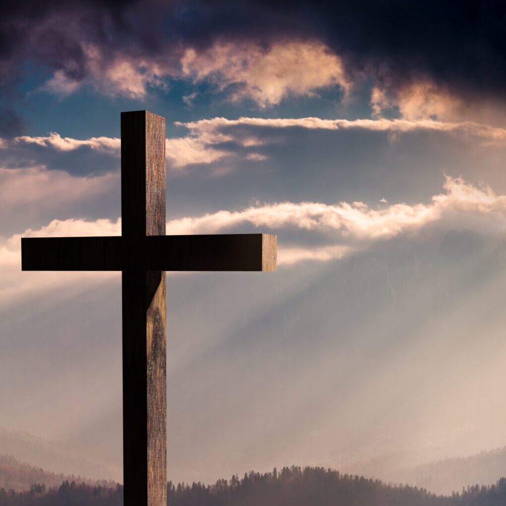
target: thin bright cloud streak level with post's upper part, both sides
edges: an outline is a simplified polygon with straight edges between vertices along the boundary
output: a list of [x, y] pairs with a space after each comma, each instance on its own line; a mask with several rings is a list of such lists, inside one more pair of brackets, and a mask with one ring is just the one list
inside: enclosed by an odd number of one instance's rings
[[[445, 122], [433, 119], [321, 119], [305, 118], [255, 118], [240, 117], [226, 119], [215, 117], [200, 119], [187, 123], [176, 122], [190, 131], [186, 137], [169, 138], [165, 141], [165, 152], [170, 168], [181, 168], [194, 163], [215, 163], [225, 158], [234, 160], [263, 161], [266, 155], [258, 148], [269, 142], [268, 136], [260, 135], [266, 129], [283, 130], [300, 128], [306, 130], [368, 130], [372, 132], [407, 133], [414, 131], [436, 131], [450, 135], [466, 135], [478, 142], [504, 146], [506, 129], [472, 121]], [[241, 153], [226, 149], [223, 143], [232, 143], [241, 148]], [[39, 146], [55, 151], [69, 152], [81, 147], [88, 147], [97, 153], [106, 153], [119, 157], [121, 140], [115, 137], [92, 137], [73, 139], [61, 137], [58, 133], [48, 136], [20, 136], [13, 140], [0, 139], [0, 150], [9, 148], [27, 149]], [[30, 155], [31, 156], [31, 155]], [[36, 160], [34, 160], [36, 163]]]

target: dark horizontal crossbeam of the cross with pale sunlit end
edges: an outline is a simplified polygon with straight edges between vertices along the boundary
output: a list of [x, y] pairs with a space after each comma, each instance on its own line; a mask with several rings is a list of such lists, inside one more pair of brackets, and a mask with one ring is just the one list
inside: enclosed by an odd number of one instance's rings
[[270, 234], [23, 237], [24, 271], [275, 271]]

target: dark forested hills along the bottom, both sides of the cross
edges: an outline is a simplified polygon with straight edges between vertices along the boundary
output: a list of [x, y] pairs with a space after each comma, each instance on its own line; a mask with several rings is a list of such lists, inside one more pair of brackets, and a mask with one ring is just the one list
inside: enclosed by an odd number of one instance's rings
[[[63, 482], [49, 490], [39, 484], [17, 493], [0, 488], [0, 506], [122, 506], [123, 487], [104, 488]], [[242, 479], [212, 486], [167, 484], [168, 506], [504, 506], [506, 478], [489, 487], [468, 488], [452, 496], [425, 489], [386, 485], [323, 468], [291, 467], [280, 473], [250, 472]]]

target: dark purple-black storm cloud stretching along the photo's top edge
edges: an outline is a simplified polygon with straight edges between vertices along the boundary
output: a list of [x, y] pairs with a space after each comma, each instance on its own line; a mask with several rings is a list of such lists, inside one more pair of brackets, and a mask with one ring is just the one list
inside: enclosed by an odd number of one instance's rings
[[506, 81], [503, 2], [8, 2], [0, 16], [0, 78], [32, 60], [80, 80], [83, 43], [107, 60], [120, 50], [169, 57], [217, 38], [268, 45], [318, 39], [386, 86], [429, 78], [463, 97], [502, 98]]

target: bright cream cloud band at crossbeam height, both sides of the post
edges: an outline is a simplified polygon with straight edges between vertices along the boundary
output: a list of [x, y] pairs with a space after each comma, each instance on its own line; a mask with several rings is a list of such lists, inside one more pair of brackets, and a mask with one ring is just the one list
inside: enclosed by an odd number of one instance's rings
[[[324, 204], [281, 202], [256, 204], [231, 212], [184, 217], [166, 224], [168, 234], [216, 234], [251, 231], [277, 233], [278, 265], [327, 262], [363, 251], [375, 242], [415, 234], [431, 224], [455, 224], [480, 232], [506, 232], [506, 195], [477, 188], [461, 178], [446, 177], [444, 192], [429, 204], [397, 203], [371, 209], [362, 202]], [[100, 283], [114, 273], [22, 273], [21, 237], [119, 235], [121, 220], [53, 220], [39, 229], [14, 234], [0, 246], [0, 302], [10, 303], [38, 290], [68, 283]], [[310, 234], [303, 237], [300, 233]], [[309, 237], [309, 239], [308, 239]], [[109, 277], [108, 277], [109, 276]]]

